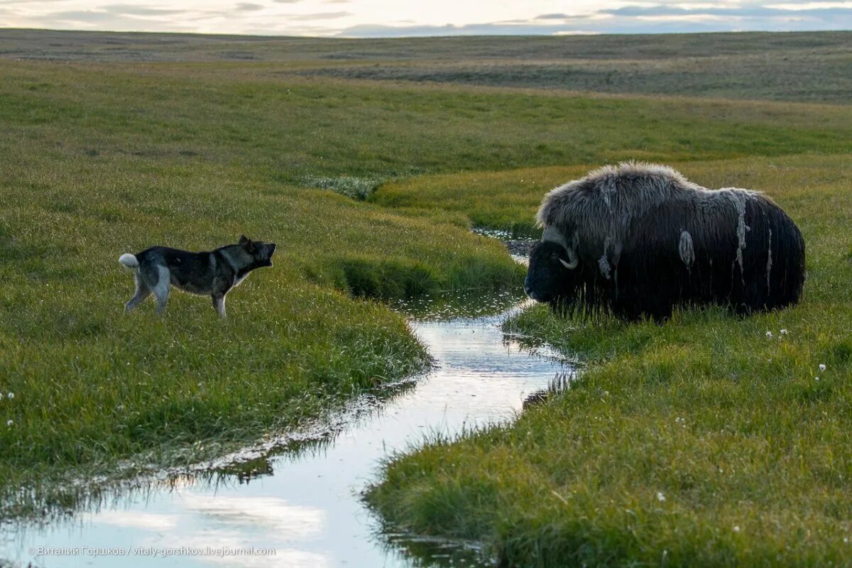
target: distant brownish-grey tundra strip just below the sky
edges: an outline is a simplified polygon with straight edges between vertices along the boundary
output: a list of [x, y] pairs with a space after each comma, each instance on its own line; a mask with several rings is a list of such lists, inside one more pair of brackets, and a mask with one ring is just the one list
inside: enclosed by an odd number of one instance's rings
[[849, 103], [852, 32], [323, 39], [0, 30], [0, 54], [227, 61], [277, 73], [592, 93]]

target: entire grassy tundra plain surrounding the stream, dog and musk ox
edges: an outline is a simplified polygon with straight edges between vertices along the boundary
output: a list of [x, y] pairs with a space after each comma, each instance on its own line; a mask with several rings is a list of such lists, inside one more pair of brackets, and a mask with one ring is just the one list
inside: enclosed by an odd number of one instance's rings
[[[848, 564], [852, 33], [11, 30], [0, 55], [5, 516], [423, 370], [383, 301], [520, 284], [469, 229], [534, 235], [551, 187], [643, 159], [775, 198], [808, 247], [802, 304], [662, 326], [533, 307], [505, 329], [581, 361], [579, 379], [508, 427], [395, 456], [368, 502], [504, 565]], [[121, 313], [119, 254], [240, 232], [279, 250], [226, 322], [178, 294], [166, 318]]]

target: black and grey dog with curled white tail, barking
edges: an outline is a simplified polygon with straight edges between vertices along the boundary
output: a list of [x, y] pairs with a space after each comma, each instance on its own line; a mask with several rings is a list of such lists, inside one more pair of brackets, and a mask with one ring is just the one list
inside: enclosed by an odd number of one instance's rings
[[190, 294], [210, 295], [219, 316], [225, 317], [225, 295], [260, 267], [272, 266], [274, 243], [263, 243], [240, 236], [239, 243], [206, 252], [188, 252], [155, 246], [136, 255], [124, 254], [118, 262], [134, 268], [136, 291], [124, 304], [132, 312], [153, 293], [157, 313], [165, 312], [170, 286]]

